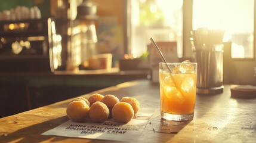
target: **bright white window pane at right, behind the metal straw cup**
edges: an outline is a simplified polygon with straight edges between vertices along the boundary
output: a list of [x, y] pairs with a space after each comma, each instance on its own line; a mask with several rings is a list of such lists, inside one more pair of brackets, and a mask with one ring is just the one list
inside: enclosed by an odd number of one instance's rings
[[226, 30], [232, 58], [254, 58], [254, 0], [193, 0], [192, 24]]

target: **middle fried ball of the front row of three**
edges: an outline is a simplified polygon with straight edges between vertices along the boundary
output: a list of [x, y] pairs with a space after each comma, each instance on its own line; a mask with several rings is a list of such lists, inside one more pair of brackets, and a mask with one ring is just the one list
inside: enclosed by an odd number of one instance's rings
[[96, 101], [90, 107], [89, 117], [92, 122], [104, 122], [109, 118], [109, 108], [103, 102]]

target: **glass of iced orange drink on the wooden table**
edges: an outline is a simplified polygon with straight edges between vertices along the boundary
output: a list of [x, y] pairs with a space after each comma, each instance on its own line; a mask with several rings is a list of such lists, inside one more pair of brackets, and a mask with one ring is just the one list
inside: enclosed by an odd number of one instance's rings
[[192, 120], [196, 100], [196, 63], [159, 63], [161, 116], [168, 120]]

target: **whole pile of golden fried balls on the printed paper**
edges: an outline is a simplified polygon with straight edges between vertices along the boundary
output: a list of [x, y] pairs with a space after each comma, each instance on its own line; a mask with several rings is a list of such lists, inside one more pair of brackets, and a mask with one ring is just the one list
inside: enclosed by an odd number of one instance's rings
[[88, 100], [84, 97], [74, 98], [67, 105], [67, 117], [73, 122], [84, 122], [87, 116], [95, 123], [113, 118], [119, 123], [128, 123], [140, 109], [140, 102], [133, 97], [92, 94]]

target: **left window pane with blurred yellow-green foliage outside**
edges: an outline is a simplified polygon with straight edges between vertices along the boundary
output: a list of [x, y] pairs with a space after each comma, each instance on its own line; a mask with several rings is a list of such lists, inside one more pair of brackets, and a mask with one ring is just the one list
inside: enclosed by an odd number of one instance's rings
[[147, 51], [150, 38], [177, 42], [183, 55], [183, 0], [131, 0], [131, 51], [139, 57]]

